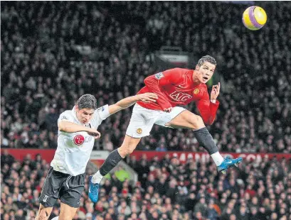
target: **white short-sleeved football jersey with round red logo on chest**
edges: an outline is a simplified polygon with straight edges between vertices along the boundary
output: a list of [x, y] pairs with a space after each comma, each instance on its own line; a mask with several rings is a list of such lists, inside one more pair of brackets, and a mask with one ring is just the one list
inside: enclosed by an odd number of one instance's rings
[[[97, 130], [100, 123], [108, 116], [110, 116], [108, 105], [102, 106], [95, 110], [92, 119], [85, 126]], [[60, 114], [58, 122], [60, 121], [82, 125], [77, 119], [75, 107]], [[53, 170], [73, 176], [83, 174], [90, 159], [94, 141], [94, 137], [85, 131], [75, 133], [58, 131], [58, 148], [51, 162]]]

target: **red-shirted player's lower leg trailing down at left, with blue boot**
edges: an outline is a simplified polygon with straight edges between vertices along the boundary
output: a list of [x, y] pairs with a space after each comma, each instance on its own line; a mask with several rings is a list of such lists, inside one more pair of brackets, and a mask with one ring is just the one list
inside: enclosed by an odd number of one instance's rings
[[92, 202], [97, 202], [98, 200], [99, 184], [102, 177], [107, 175], [107, 173], [110, 172], [110, 170], [112, 170], [120, 160], [132, 153], [134, 149], [137, 148], [140, 139], [141, 138], [132, 138], [126, 135], [120, 148], [113, 150], [100, 167], [100, 170], [98, 170], [95, 175], [89, 177], [89, 198]]

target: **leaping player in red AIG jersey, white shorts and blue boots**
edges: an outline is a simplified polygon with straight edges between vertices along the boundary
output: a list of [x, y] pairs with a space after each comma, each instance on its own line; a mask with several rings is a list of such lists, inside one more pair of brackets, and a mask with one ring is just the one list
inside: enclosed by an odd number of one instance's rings
[[[218, 172], [225, 173], [228, 167], [238, 165], [242, 158], [223, 158], [208, 132], [205, 123], [211, 125], [216, 118], [219, 101], [216, 100], [220, 91], [220, 83], [213, 85], [209, 94], [206, 82], [213, 76], [216, 60], [203, 56], [195, 70], [174, 68], [159, 72], [144, 79], [145, 87], [138, 94], [154, 92], [158, 95], [157, 102], [134, 105], [132, 118], [127, 128], [125, 140], [120, 148], [113, 150], [95, 175], [90, 177], [89, 197], [97, 202], [98, 187], [105, 176], [122, 158], [133, 152], [140, 139], [149, 136], [152, 126], [158, 124], [169, 128], [187, 128], [194, 131], [200, 145], [205, 148], [218, 167]], [[196, 102], [201, 116], [178, 106]]]

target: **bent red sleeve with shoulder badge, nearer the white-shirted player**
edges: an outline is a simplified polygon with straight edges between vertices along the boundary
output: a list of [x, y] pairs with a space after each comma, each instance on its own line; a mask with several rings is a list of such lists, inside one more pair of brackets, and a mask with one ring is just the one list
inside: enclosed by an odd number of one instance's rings
[[162, 93], [161, 87], [167, 84], [179, 84], [181, 81], [182, 71], [180, 68], [174, 68], [166, 70], [164, 72], [158, 72], [155, 75], [151, 75], [144, 79], [144, 84], [149, 88], [150, 92], [154, 92], [158, 95], [157, 103], [163, 110], [169, 109], [171, 104], [166, 96]]

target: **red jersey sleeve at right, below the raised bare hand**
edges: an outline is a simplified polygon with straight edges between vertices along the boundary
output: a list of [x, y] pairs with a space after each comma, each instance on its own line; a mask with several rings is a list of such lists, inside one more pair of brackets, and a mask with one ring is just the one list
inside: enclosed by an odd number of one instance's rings
[[206, 90], [203, 93], [202, 99], [196, 102], [196, 106], [199, 109], [204, 123], [211, 125], [216, 119], [216, 112], [218, 110], [219, 101], [216, 100], [216, 103], [212, 103]]

